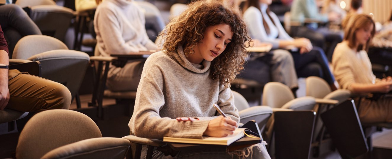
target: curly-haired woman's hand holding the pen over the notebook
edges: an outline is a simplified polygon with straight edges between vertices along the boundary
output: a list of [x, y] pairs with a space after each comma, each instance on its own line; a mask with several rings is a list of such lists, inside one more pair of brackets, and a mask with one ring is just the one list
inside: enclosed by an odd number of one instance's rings
[[210, 120], [203, 135], [211, 137], [225, 137], [232, 135], [237, 127], [238, 123], [234, 120], [231, 120], [230, 117], [225, 118], [223, 116], [219, 116]]

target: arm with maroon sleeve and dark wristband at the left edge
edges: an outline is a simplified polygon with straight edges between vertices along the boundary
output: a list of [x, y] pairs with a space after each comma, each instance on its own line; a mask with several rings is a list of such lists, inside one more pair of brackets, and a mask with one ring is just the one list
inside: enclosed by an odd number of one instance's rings
[[[8, 46], [0, 26], [0, 64], [9, 65]], [[9, 101], [8, 69], [0, 69], [0, 110], [4, 110]]]

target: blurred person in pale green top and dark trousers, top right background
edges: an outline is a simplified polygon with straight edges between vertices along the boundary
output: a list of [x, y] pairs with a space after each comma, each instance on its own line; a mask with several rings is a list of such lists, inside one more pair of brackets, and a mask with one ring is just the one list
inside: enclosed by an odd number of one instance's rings
[[[305, 18], [311, 18], [327, 23], [336, 22], [341, 19], [340, 15], [336, 12], [320, 14], [319, 7], [316, 3], [316, 0], [293, 0], [290, 11], [291, 20], [304, 23]], [[314, 46], [323, 48], [329, 61], [332, 59], [336, 44], [343, 40], [343, 34], [341, 32], [329, 30], [328, 27], [320, 27], [317, 23], [309, 23], [306, 26], [292, 26], [290, 32], [294, 37], [305, 37]], [[330, 43], [328, 48], [326, 42]]]

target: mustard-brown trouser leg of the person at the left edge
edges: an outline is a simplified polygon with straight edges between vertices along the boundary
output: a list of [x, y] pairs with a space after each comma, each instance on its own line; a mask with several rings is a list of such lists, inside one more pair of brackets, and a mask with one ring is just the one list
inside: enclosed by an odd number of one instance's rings
[[8, 71], [8, 89], [10, 99], [5, 108], [40, 112], [69, 109], [71, 105], [71, 92], [64, 85], [18, 70]]

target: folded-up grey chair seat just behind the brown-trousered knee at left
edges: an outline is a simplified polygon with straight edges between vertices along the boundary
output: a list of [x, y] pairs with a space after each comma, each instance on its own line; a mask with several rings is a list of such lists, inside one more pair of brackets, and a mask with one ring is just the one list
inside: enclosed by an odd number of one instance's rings
[[90, 57], [81, 51], [60, 49], [39, 53], [28, 60], [40, 61], [42, 78], [63, 84], [75, 97], [82, 85]]

